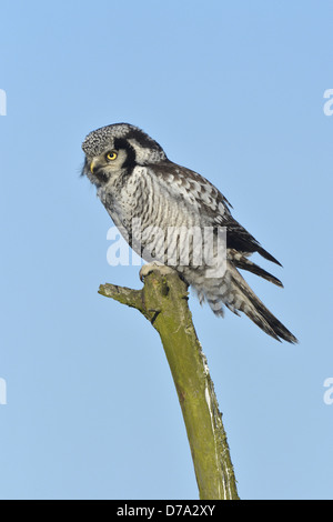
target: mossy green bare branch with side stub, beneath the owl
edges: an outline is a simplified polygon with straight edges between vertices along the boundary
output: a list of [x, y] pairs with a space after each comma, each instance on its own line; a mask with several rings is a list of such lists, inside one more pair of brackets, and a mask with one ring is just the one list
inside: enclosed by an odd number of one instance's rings
[[99, 293], [137, 308], [161, 337], [190, 442], [200, 499], [236, 500], [222, 415], [188, 307], [188, 287], [174, 270], [144, 267], [144, 287], [103, 284]]

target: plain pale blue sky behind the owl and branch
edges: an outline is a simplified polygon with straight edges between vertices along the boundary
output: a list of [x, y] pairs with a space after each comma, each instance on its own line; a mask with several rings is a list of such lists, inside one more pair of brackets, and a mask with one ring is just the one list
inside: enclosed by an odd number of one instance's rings
[[324, 0], [1, 2], [1, 499], [198, 498], [158, 334], [97, 293], [141, 285], [79, 175], [85, 134], [120, 121], [284, 267], [262, 262], [283, 290], [246, 279], [299, 345], [190, 299], [240, 496], [332, 499], [332, 20]]

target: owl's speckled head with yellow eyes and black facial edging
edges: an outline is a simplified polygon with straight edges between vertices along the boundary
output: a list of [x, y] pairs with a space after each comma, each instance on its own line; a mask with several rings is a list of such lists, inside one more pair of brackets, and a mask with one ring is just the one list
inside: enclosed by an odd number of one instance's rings
[[82, 174], [101, 187], [112, 174], [131, 172], [135, 165], [167, 159], [163, 149], [138, 127], [114, 123], [90, 132], [82, 143], [85, 161]]

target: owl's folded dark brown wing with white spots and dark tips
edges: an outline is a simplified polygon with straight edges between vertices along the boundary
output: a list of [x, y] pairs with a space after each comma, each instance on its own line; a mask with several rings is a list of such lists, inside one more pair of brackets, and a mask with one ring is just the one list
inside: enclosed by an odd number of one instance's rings
[[281, 265], [232, 217], [230, 211], [232, 205], [228, 199], [205, 178], [169, 160], [154, 164], [152, 171], [154, 175], [158, 175], [170, 195], [185, 202], [190, 211], [194, 209], [194, 211], [200, 212], [206, 219], [208, 224], [212, 227], [226, 228], [229, 249], [245, 254], [258, 252], [269, 261]]

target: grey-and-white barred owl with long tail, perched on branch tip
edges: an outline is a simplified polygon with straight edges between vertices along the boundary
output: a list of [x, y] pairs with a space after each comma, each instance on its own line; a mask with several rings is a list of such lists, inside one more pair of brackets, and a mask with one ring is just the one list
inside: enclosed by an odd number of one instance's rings
[[250, 257], [280, 262], [232, 217], [232, 205], [210, 181], [170, 161], [157, 141], [129, 123], [90, 132], [82, 149], [82, 174], [143, 260], [171, 265], [216, 315], [225, 308], [243, 312], [272, 338], [297, 342], [241, 274], [282, 287]]

